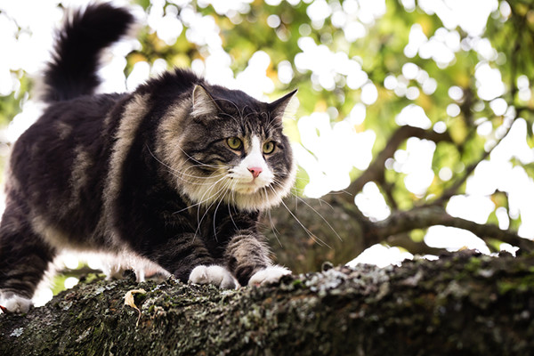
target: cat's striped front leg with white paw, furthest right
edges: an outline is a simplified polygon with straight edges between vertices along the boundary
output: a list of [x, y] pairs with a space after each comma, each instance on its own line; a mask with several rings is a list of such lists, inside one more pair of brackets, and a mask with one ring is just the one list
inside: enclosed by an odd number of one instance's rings
[[278, 281], [291, 271], [273, 265], [269, 247], [261, 235], [243, 233], [234, 236], [226, 247], [226, 259], [230, 271], [242, 286], [257, 286]]

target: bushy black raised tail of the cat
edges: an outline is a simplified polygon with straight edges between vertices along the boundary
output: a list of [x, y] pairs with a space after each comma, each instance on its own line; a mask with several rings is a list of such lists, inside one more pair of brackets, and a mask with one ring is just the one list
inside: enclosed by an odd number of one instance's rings
[[53, 59], [44, 71], [46, 102], [91, 94], [100, 85], [96, 75], [101, 50], [124, 36], [134, 16], [111, 4], [90, 4], [74, 12], [58, 34]]

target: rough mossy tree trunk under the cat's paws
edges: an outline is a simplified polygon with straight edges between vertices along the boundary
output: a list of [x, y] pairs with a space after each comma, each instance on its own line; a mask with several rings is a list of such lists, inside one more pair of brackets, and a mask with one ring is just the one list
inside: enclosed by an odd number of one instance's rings
[[[0, 354], [534, 354], [533, 266], [463, 252], [239, 290], [97, 280], [0, 315]], [[125, 294], [139, 288], [136, 326]]]

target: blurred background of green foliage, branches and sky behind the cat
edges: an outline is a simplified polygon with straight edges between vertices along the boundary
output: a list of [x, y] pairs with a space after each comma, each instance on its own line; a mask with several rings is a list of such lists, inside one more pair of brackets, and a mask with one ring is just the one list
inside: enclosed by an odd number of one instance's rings
[[[32, 90], [54, 29], [84, 4], [0, 0], [3, 167], [44, 108]], [[294, 197], [264, 223], [293, 271], [460, 248], [514, 253], [534, 239], [530, 1], [113, 4], [131, 6], [141, 26], [104, 53], [103, 93], [173, 67], [263, 101], [298, 88], [285, 122], [300, 166]], [[98, 268], [72, 255], [58, 265], [55, 291], [77, 283], [72, 270]]]

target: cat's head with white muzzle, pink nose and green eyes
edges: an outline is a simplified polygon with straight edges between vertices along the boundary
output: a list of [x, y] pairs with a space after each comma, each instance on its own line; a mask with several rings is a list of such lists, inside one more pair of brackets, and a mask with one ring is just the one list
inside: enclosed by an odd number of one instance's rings
[[[221, 86], [196, 85], [167, 127], [166, 164], [182, 194], [203, 206], [276, 206], [295, 181], [282, 118], [293, 94], [271, 103]], [[165, 138], [165, 137], [164, 137]]]

